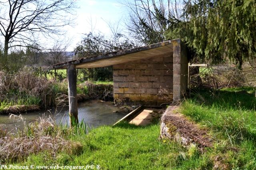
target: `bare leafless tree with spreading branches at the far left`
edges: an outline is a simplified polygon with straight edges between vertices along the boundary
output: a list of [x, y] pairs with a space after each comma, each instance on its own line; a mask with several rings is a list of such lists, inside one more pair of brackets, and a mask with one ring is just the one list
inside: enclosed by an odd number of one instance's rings
[[0, 33], [4, 37], [2, 66], [8, 70], [10, 47], [36, 44], [39, 35], [60, 35], [70, 25], [75, 0], [0, 0]]

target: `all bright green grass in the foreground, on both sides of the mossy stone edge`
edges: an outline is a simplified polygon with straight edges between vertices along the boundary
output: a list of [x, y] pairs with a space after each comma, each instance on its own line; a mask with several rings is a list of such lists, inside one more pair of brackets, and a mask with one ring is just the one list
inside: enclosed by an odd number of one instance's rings
[[[254, 88], [200, 90], [200, 93], [194, 92], [190, 99], [184, 101], [181, 113], [207, 129], [214, 139], [213, 147], [204, 151], [195, 145], [185, 148], [174, 141], [160, 140], [157, 119], [146, 127], [122, 122], [114, 127], [91, 129], [87, 135], [65, 133], [63, 140], [75, 143], [78, 147], [60, 149], [54, 154], [50, 150], [42, 150], [39, 154], [31, 151], [20, 160], [6, 160], [6, 164], [94, 164], [100, 165], [101, 169], [111, 170], [253, 170], [256, 169], [255, 104]], [[54, 136], [54, 133], [49, 132], [49, 136]]]

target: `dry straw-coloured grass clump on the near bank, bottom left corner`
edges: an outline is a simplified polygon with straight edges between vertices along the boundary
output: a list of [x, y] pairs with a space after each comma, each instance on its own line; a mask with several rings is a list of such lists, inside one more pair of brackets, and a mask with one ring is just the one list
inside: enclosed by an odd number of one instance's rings
[[[10, 117], [17, 116], [10, 115]], [[22, 116], [18, 119], [23, 121]], [[18, 130], [16, 134], [0, 132], [0, 160], [1, 162], [22, 161], [28, 155], [40, 152], [47, 152], [52, 157], [60, 151], [81, 152], [80, 143], [70, 141], [69, 137], [85, 134], [85, 123], [68, 127], [57, 125], [51, 117], [43, 117], [29, 125], [25, 124], [24, 129]]]

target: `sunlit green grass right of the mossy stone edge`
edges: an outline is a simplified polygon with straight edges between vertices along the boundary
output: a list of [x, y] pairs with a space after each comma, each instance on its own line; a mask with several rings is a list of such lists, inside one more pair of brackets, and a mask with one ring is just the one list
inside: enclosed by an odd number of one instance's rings
[[255, 88], [223, 88], [192, 94], [180, 109], [200, 125], [212, 129], [216, 147], [230, 168], [256, 169], [256, 98]]

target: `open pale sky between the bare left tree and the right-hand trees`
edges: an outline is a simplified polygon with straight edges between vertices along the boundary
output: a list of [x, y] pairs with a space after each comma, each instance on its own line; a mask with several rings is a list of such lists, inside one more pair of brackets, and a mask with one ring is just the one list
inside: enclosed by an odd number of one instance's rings
[[124, 29], [126, 8], [120, 0], [78, 0], [74, 26], [66, 26], [65, 41], [70, 41], [66, 51], [73, 51], [76, 44], [82, 40], [83, 33], [101, 32], [110, 35], [108, 23], [118, 23]]

